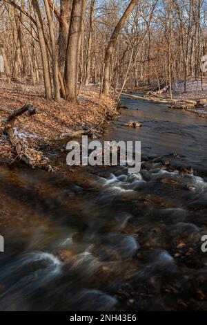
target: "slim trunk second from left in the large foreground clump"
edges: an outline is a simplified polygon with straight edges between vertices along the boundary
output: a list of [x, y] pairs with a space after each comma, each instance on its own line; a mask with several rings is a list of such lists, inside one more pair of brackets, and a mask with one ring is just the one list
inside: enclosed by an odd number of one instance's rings
[[52, 45], [52, 73], [53, 73], [53, 84], [55, 88], [55, 100], [60, 100], [60, 93], [59, 93], [59, 80], [58, 80], [58, 62], [57, 62], [57, 52], [56, 52], [56, 44], [55, 44], [55, 34], [54, 28], [52, 23], [52, 15], [50, 12], [50, 6], [48, 4], [48, 0], [44, 0], [45, 7], [46, 7], [46, 15], [48, 18], [49, 30], [50, 30], [50, 39]]

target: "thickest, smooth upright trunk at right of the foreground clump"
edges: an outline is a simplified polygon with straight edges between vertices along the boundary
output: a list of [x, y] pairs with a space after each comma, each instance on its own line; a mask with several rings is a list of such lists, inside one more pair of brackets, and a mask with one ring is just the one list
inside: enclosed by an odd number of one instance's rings
[[68, 48], [66, 53], [66, 66], [64, 83], [66, 87], [66, 99], [77, 102], [77, 81], [79, 73], [79, 54], [81, 46], [81, 33], [83, 17], [86, 11], [86, 0], [74, 0], [70, 17], [68, 33]]

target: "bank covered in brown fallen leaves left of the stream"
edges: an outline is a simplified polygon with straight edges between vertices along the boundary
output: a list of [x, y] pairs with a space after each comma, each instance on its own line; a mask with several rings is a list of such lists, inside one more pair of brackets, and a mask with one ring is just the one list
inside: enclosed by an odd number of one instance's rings
[[[79, 103], [61, 100], [49, 101], [44, 98], [43, 86], [32, 86], [23, 82], [10, 85], [0, 83], [0, 119], [7, 118], [13, 109], [26, 103], [37, 109], [37, 114], [28, 117], [23, 114], [14, 124], [14, 134], [35, 150], [50, 148], [61, 142], [63, 133], [90, 129], [90, 136], [101, 134], [106, 123], [117, 115], [117, 103], [110, 98], [99, 98], [95, 86], [84, 87], [79, 95]], [[6, 111], [5, 109], [8, 109]], [[0, 126], [1, 134], [3, 125]], [[14, 148], [7, 136], [0, 138], [0, 160], [12, 163], [16, 160]], [[17, 159], [18, 160], [18, 159]]]

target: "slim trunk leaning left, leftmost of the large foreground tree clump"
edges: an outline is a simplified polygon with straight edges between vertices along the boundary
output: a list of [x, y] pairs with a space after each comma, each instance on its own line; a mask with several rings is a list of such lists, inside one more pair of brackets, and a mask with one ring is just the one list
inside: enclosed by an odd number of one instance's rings
[[32, 6], [34, 8], [34, 15], [36, 17], [37, 32], [39, 37], [39, 46], [41, 50], [41, 59], [43, 64], [43, 78], [45, 84], [46, 98], [47, 100], [52, 100], [52, 84], [50, 77], [50, 66], [48, 61], [48, 53], [46, 48], [46, 41], [43, 33], [43, 20], [41, 17], [41, 11], [39, 8], [39, 2], [37, 0], [32, 0]]

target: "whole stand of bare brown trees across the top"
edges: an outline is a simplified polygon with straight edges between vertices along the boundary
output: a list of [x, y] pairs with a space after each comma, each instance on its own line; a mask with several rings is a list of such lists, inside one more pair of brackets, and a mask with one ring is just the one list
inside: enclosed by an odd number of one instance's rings
[[204, 0], [2, 0], [0, 54], [8, 82], [44, 82], [48, 100], [77, 102], [81, 86], [125, 87], [203, 79]]

